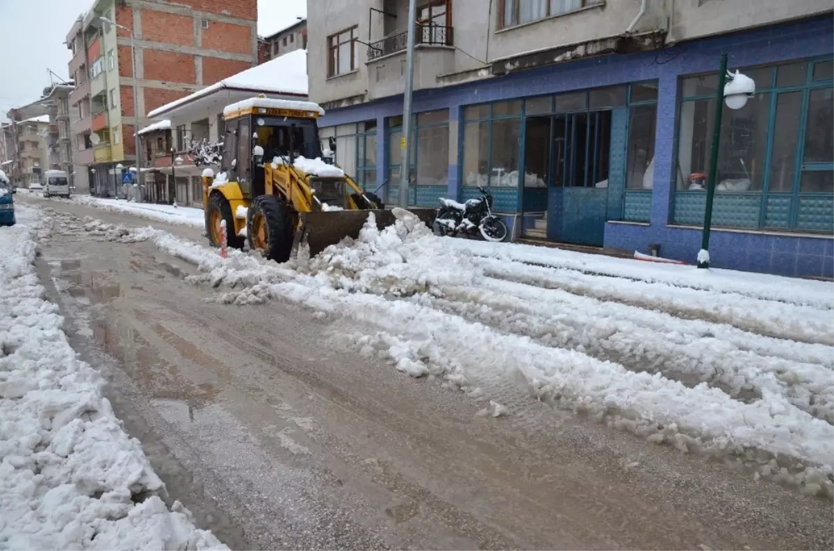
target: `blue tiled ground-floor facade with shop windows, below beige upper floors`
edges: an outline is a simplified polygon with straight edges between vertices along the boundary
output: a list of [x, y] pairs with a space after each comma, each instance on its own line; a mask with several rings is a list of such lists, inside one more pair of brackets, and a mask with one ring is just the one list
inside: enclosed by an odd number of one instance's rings
[[[484, 185], [517, 228], [546, 215], [551, 241], [694, 263], [721, 53], [757, 93], [724, 111], [711, 265], [834, 278], [834, 17], [417, 92], [409, 203]], [[395, 97], [319, 122], [389, 202], [401, 114]]]

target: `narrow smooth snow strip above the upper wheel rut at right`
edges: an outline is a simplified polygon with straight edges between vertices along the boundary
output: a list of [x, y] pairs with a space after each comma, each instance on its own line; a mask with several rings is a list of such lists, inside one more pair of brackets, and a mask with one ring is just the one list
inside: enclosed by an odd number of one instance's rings
[[834, 332], [831, 332], [834, 313], [826, 310], [732, 293], [676, 288], [666, 283], [590, 276], [561, 268], [540, 268], [492, 258], [480, 258], [478, 263], [485, 269], [485, 275], [492, 278], [658, 310], [677, 318], [726, 323], [773, 338], [834, 346]]

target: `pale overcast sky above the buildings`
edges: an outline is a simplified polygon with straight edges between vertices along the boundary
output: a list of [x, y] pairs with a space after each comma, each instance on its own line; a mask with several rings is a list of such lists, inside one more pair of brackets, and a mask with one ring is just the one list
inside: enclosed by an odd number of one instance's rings
[[[47, 68], [68, 78], [63, 41], [93, 0], [0, 0], [0, 119], [32, 103], [49, 86]], [[306, 17], [306, 0], [258, 0], [258, 33], [266, 36]]]

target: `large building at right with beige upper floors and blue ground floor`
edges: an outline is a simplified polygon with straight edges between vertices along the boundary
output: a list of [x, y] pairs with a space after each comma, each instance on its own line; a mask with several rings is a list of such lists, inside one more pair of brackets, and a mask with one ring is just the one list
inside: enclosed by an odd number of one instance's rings
[[[408, 0], [310, 0], [310, 99], [337, 162], [398, 199]], [[834, 1], [430, 0], [409, 203], [489, 188], [515, 236], [692, 263], [721, 54], [711, 265], [834, 277]], [[390, 184], [394, 185], [390, 185]]]

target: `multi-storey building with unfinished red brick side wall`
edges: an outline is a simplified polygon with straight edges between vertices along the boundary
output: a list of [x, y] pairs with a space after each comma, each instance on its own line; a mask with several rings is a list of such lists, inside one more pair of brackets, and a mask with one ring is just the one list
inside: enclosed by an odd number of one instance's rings
[[95, 193], [117, 193], [116, 167], [136, 162], [148, 112], [258, 63], [256, 26], [256, 0], [97, 0], [73, 23], [72, 139]]

